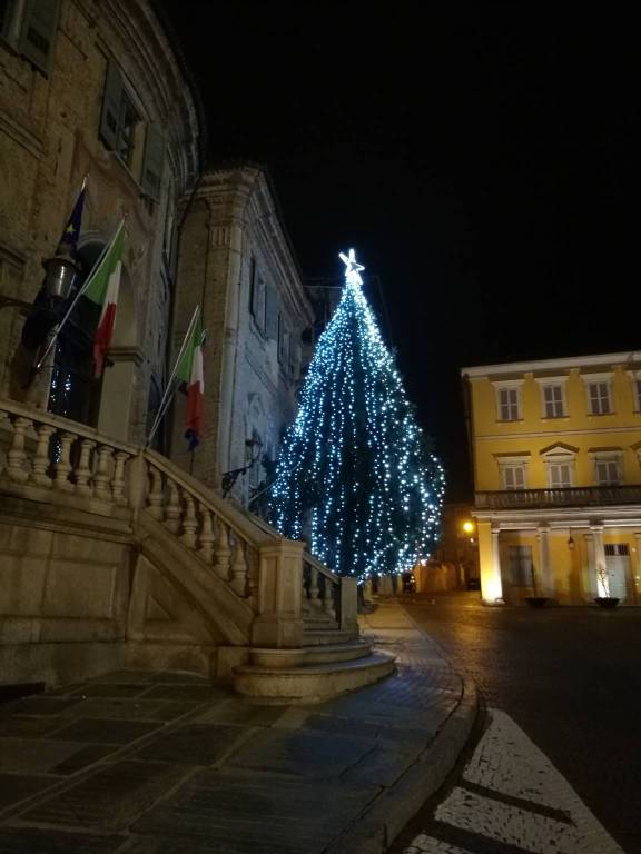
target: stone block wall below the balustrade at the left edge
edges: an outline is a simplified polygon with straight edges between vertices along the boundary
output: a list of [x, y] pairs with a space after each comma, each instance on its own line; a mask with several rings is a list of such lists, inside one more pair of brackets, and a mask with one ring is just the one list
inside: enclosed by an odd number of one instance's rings
[[122, 666], [127, 526], [17, 498], [1, 509], [0, 682], [71, 683]]

